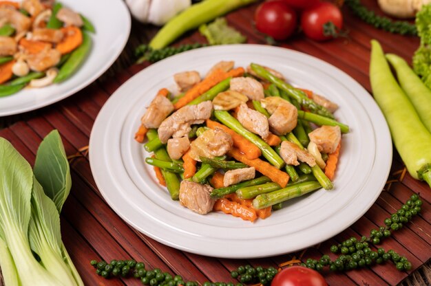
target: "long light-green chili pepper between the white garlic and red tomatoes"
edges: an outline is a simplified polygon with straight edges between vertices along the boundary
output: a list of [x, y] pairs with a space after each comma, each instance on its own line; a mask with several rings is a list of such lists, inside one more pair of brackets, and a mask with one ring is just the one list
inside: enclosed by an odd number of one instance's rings
[[185, 32], [198, 28], [204, 23], [248, 5], [256, 0], [206, 0], [191, 5], [189, 8], [169, 20], [154, 36], [149, 46], [154, 50], [166, 47]]

